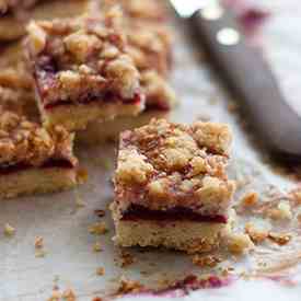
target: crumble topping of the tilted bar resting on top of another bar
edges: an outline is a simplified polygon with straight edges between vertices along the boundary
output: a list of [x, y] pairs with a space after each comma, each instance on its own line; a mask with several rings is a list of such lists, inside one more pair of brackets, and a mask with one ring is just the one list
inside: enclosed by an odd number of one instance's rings
[[44, 105], [135, 99], [140, 74], [126, 53], [119, 10], [103, 18], [31, 22], [28, 55]]

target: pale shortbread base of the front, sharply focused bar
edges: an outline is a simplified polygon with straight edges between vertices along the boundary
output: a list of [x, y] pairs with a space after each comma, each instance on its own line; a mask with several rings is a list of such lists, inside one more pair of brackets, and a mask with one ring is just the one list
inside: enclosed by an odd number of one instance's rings
[[115, 222], [114, 242], [128, 246], [164, 246], [187, 253], [210, 252], [218, 248], [221, 232], [227, 224], [195, 221], [123, 221], [116, 208], [111, 206]]

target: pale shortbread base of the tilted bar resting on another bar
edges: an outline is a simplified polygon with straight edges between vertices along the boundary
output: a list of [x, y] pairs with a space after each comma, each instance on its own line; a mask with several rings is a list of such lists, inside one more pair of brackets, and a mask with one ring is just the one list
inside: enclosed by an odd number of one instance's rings
[[[40, 106], [39, 106], [40, 107]], [[42, 108], [43, 121], [47, 126], [61, 125], [67, 130], [84, 129], [91, 121], [104, 121], [115, 116], [132, 116], [141, 112], [142, 105], [137, 104], [89, 104], [61, 105], [45, 111]]]

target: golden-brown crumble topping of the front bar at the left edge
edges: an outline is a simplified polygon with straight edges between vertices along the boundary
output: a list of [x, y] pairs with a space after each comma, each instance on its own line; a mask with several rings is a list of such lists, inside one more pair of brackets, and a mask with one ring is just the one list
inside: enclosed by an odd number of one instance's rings
[[50, 159], [65, 159], [73, 165], [73, 136], [62, 127], [51, 129], [30, 121], [25, 116], [0, 106], [0, 164], [25, 163], [40, 166]]

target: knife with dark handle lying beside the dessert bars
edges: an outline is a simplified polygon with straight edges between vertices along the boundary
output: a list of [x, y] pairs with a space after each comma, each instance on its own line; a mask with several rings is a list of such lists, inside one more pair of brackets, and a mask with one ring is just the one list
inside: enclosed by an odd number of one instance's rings
[[277, 158], [301, 162], [301, 117], [281, 94], [263, 55], [247, 44], [229, 9], [217, 0], [170, 0], [196, 31], [202, 49], [242, 102], [253, 129]]

